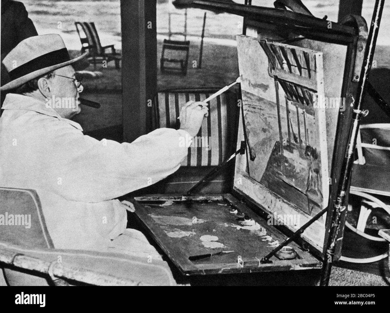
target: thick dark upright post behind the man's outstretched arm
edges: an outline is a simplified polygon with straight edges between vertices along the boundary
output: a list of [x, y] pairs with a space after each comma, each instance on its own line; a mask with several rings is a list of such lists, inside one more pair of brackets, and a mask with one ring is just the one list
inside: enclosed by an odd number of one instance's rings
[[150, 129], [157, 89], [156, 0], [121, 0], [123, 140]]

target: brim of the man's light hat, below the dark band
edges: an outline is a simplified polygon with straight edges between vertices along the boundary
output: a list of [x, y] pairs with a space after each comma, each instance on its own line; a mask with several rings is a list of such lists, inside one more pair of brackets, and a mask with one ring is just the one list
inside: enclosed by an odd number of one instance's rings
[[30, 80], [32, 80], [34, 78], [42, 76], [46, 73], [50, 73], [51, 71], [54, 71], [56, 69], [63, 68], [64, 66], [67, 66], [67, 65], [73, 64], [75, 70], [77, 70], [77, 71], [80, 71], [81, 69], [85, 69], [90, 65], [89, 62], [87, 62], [86, 60], [83, 60], [87, 56], [87, 54], [88, 54], [88, 52], [85, 52], [82, 55], [80, 55], [72, 60], [62, 62], [62, 63], [56, 64], [53, 66], [49, 66], [47, 68], [42, 68], [42, 69], [39, 69], [39, 70], [34, 71], [32, 73], [29, 73], [27, 75], [21, 76], [15, 80], [11, 80], [11, 82], [5, 84], [4, 86], [1, 86], [0, 91], [8, 91], [8, 90], [15, 89], [15, 88], [20, 87], [21, 85], [29, 82]]

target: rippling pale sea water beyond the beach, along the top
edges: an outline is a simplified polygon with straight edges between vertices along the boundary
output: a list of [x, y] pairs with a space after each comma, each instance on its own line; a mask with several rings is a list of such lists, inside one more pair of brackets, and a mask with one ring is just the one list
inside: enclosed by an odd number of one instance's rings
[[[119, 0], [95, 1], [59, 1], [59, 0], [21, 0], [26, 6], [28, 15], [34, 22], [38, 34], [60, 34], [71, 50], [80, 49], [75, 21], [94, 21], [99, 32], [102, 45], [115, 44], [121, 49], [121, 19]], [[243, 3], [243, 1], [238, 3]], [[252, 4], [273, 7], [274, 0], [253, 0]], [[314, 16], [337, 21], [339, 0], [303, 0], [302, 1]], [[363, 1], [362, 16], [370, 23], [375, 0]], [[168, 12], [172, 15], [172, 32], [184, 30], [184, 10], [172, 9], [162, 0], [157, 4], [157, 33], [159, 39], [168, 33]], [[187, 32], [200, 36], [204, 10], [188, 9]], [[207, 11], [205, 36], [207, 41], [221, 44], [234, 44], [235, 36], [241, 34], [242, 18], [232, 14], [215, 14]], [[385, 2], [381, 26], [379, 29], [378, 45], [390, 45], [390, 2]], [[197, 37], [190, 37], [196, 40]], [[228, 39], [228, 40], [223, 40]]]

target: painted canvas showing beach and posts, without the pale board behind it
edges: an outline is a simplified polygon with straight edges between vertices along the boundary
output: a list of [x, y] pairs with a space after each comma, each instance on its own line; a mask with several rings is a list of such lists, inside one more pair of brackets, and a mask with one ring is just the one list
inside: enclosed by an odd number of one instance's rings
[[309, 214], [321, 210], [329, 195], [325, 109], [317, 105], [322, 52], [244, 36], [238, 43], [252, 52], [239, 53], [250, 176]]

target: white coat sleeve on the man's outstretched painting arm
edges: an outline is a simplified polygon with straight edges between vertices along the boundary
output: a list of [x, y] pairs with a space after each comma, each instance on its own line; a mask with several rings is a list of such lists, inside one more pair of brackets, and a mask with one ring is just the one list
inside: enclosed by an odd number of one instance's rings
[[50, 188], [73, 201], [99, 202], [122, 196], [177, 171], [191, 138], [184, 130], [160, 128], [120, 144], [99, 141], [78, 130], [62, 132], [52, 140], [57, 148], [51, 157], [56, 162], [46, 164], [47, 172], [54, 175], [51, 181], [60, 179], [60, 184], [57, 181]]

